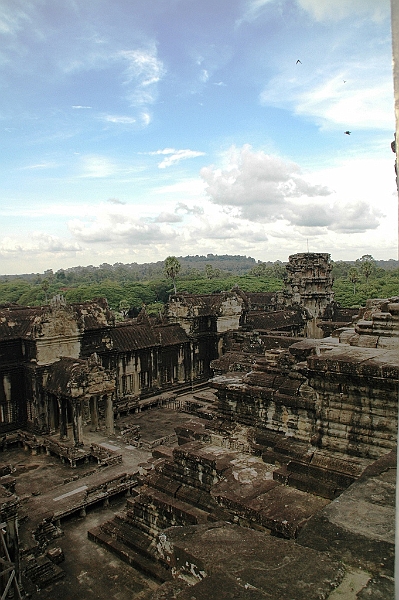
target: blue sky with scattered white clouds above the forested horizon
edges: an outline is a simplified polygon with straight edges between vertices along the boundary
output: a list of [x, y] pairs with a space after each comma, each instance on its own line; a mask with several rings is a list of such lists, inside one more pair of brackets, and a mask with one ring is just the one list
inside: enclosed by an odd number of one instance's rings
[[397, 258], [389, 0], [0, 0], [0, 127], [0, 274]]

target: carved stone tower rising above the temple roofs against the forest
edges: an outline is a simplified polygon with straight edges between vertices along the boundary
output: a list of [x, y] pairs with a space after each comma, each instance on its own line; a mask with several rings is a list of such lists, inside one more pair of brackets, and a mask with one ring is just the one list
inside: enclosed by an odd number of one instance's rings
[[323, 331], [317, 319], [334, 299], [330, 255], [327, 253], [302, 252], [289, 257], [284, 295], [287, 305], [299, 304], [307, 310], [310, 320], [306, 336], [322, 338]]

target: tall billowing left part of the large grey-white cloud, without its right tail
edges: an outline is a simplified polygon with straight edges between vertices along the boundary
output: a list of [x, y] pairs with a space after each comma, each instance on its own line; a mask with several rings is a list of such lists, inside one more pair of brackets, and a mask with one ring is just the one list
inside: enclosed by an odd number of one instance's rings
[[332, 193], [324, 186], [306, 182], [297, 164], [262, 151], [254, 152], [249, 145], [232, 153], [226, 169], [204, 167], [200, 173], [212, 202], [237, 207], [241, 217], [250, 221], [283, 219], [289, 198]]

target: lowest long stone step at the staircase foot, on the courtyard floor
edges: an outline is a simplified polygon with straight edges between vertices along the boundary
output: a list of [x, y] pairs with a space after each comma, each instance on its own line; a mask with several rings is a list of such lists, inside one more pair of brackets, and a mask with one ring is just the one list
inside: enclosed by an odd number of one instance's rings
[[113, 538], [109, 533], [102, 531], [101, 526], [88, 531], [88, 537], [93, 542], [104, 546], [110, 552], [113, 552], [121, 560], [138, 569], [145, 575], [164, 583], [172, 579], [172, 574], [166, 566], [143, 556], [139, 552], [129, 548], [123, 542]]

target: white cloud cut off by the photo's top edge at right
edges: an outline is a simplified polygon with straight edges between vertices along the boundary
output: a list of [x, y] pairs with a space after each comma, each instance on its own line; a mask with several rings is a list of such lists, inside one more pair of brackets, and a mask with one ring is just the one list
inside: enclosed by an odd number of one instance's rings
[[389, 16], [389, 0], [297, 0], [316, 21], [340, 21], [353, 16], [370, 16], [379, 21]]

